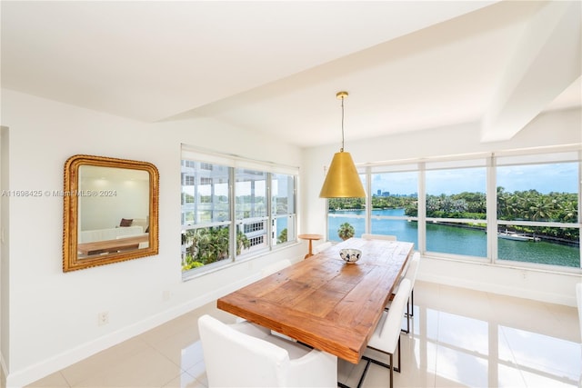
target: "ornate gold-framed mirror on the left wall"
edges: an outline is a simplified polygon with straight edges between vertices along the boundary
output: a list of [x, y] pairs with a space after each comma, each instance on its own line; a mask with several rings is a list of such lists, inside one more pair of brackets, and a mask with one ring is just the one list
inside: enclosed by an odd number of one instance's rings
[[77, 154], [65, 162], [63, 271], [158, 253], [154, 164]]

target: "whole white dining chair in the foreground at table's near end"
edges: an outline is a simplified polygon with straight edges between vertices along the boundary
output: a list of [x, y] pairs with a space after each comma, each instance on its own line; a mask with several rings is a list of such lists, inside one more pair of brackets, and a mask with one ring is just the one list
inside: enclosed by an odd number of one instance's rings
[[336, 387], [337, 357], [255, 324], [198, 319], [209, 387]]

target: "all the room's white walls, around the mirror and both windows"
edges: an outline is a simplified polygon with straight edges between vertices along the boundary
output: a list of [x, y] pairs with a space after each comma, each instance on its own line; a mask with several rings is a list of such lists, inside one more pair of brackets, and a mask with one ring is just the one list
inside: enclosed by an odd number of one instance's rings
[[[95, 154], [156, 164], [160, 172], [160, 253], [157, 256], [92, 269], [62, 272], [63, 203], [60, 197], [12, 197], [3, 201], [2, 364], [9, 386], [21, 386], [53, 373], [105, 347], [141, 333], [181, 313], [216, 299], [254, 279], [262, 266], [284, 257], [298, 260], [306, 244], [289, 247], [225, 271], [182, 282], [180, 245], [180, 144], [281, 164], [300, 165], [298, 233], [325, 234], [325, 201], [318, 198], [323, 166], [335, 146], [304, 152], [276, 139], [251, 134], [211, 119], [143, 124], [30, 95], [2, 90], [2, 125], [9, 136], [3, 160], [5, 189], [63, 189], [65, 160]], [[438, 131], [401, 134], [351, 142], [346, 151], [356, 163], [461, 154], [479, 151], [581, 142], [580, 112], [539, 117], [510, 142], [480, 144], [477, 124]], [[6, 140], [9, 144], [5, 144]], [[256, 144], [261, 144], [256, 147]], [[3, 153], [3, 158], [5, 153]], [[7, 170], [8, 176], [5, 176]], [[557, 302], [567, 300], [574, 276], [533, 274], [491, 268], [477, 283], [475, 264], [425, 260], [421, 278], [445, 283], [521, 292]], [[539, 279], [544, 281], [540, 290]], [[9, 282], [8, 282], [9, 279]], [[522, 280], [520, 280], [522, 279]], [[524, 279], [527, 279], [524, 280]], [[516, 284], [511, 284], [516, 282]], [[561, 282], [561, 284], [560, 284]], [[539, 290], [534, 293], [535, 288]], [[164, 294], [169, 293], [169, 300]], [[541, 294], [540, 294], [541, 293]], [[572, 292], [573, 295], [573, 292]], [[110, 323], [97, 325], [97, 313], [109, 312]]]

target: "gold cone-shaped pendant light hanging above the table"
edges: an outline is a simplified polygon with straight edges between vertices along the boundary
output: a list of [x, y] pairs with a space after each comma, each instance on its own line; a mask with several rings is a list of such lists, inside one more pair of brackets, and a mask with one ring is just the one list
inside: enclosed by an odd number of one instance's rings
[[337, 92], [337, 99], [342, 100], [342, 147], [329, 165], [320, 198], [363, 198], [366, 196], [364, 186], [357, 174], [352, 155], [344, 152], [344, 100], [347, 92]]

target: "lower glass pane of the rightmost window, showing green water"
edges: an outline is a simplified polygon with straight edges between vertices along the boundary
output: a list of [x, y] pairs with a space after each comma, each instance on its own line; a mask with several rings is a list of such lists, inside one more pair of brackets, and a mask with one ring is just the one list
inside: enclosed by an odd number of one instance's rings
[[497, 234], [499, 260], [580, 267], [577, 228], [503, 226]]

